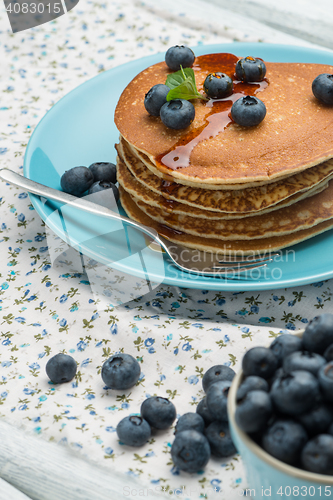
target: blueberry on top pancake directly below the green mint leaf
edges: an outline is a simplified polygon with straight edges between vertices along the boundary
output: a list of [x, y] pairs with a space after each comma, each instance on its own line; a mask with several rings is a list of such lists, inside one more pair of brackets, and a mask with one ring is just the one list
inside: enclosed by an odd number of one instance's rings
[[180, 130], [188, 127], [194, 120], [195, 110], [190, 101], [173, 99], [161, 107], [160, 117], [166, 127]]

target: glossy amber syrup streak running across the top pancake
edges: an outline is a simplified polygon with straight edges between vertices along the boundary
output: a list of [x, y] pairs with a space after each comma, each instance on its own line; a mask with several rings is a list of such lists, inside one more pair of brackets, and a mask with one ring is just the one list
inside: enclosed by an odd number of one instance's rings
[[185, 134], [171, 151], [157, 156], [155, 158], [157, 164], [171, 170], [188, 167], [191, 152], [199, 142], [215, 137], [233, 123], [230, 116], [233, 103], [246, 95], [254, 96], [267, 87], [267, 79], [254, 83], [236, 80], [235, 66], [238, 59], [233, 54], [208, 54], [197, 57], [193, 66], [194, 72], [202, 71], [206, 74], [226, 73], [233, 80], [233, 93], [224, 99], [210, 99], [205, 104], [207, 108], [205, 123]]

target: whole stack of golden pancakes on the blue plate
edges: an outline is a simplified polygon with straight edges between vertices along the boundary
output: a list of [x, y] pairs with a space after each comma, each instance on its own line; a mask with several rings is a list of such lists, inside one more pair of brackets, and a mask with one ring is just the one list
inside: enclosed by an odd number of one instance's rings
[[[209, 73], [235, 80], [238, 58], [197, 57], [202, 91]], [[172, 130], [144, 108], [144, 96], [165, 83], [165, 63], [150, 66], [126, 87], [115, 122], [121, 203], [132, 219], [185, 247], [225, 254], [275, 251], [333, 228], [333, 107], [311, 85], [319, 64], [266, 63], [267, 79], [234, 81], [222, 100], [193, 100], [195, 119]], [[255, 127], [230, 117], [232, 103], [256, 95], [267, 109]], [[332, 179], [332, 180], [331, 180]]]

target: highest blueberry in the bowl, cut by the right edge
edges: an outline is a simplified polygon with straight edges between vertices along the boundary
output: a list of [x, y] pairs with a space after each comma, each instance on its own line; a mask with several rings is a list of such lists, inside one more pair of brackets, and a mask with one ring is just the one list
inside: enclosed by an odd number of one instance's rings
[[333, 343], [333, 314], [315, 316], [303, 333], [303, 346], [307, 351], [322, 354]]

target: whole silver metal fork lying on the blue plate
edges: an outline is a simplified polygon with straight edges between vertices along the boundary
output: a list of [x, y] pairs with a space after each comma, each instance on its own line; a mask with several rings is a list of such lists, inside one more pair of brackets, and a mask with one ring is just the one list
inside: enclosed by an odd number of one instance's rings
[[[151, 227], [144, 226], [143, 224], [135, 222], [128, 217], [124, 217], [119, 213], [113, 212], [109, 208], [93, 203], [85, 198], [77, 198], [76, 196], [64, 193], [63, 191], [39, 184], [38, 182], [32, 181], [23, 175], [19, 175], [10, 169], [0, 169], [0, 178], [10, 184], [21, 187], [29, 193], [49, 198], [51, 200], [60, 201], [74, 208], [85, 210], [86, 212], [95, 215], [100, 215], [114, 220], [121, 220], [124, 224], [139, 229], [149, 236], [152, 239], [152, 242], [160, 245], [160, 247], [165, 250], [168, 257], [177, 267], [179, 267], [182, 271], [189, 273], [200, 274], [203, 276], [237, 277], [241, 273], [246, 273], [252, 269], [265, 267], [268, 262], [273, 261], [276, 255], [279, 255], [278, 253], [275, 253], [269, 255], [259, 255], [257, 257], [245, 257], [243, 259], [235, 259], [233, 256], [230, 256], [230, 258], [221, 259], [218, 254], [194, 250], [173, 243], [159, 235]], [[154, 245], [152, 248], [153, 247]]]

